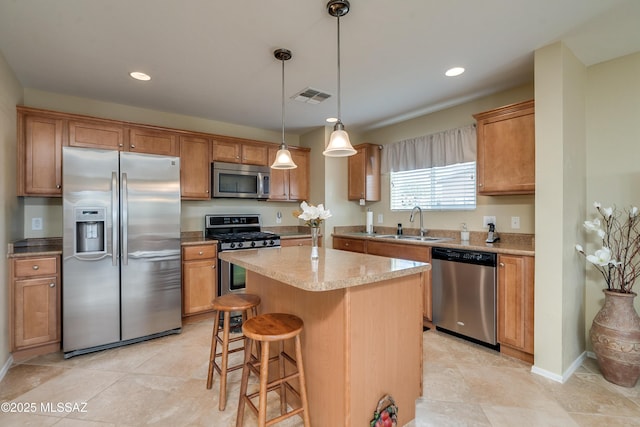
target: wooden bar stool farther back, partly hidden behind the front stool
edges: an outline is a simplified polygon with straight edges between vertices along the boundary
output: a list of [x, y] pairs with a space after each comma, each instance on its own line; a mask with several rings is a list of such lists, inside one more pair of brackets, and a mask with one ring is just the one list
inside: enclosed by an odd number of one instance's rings
[[[213, 301], [213, 309], [215, 310], [215, 321], [213, 322], [213, 336], [211, 337], [211, 354], [209, 355], [209, 372], [207, 374], [207, 389], [210, 389], [213, 385], [213, 370], [215, 369], [220, 374], [220, 401], [218, 403], [218, 409], [224, 411], [227, 405], [227, 372], [235, 371], [242, 368], [244, 364], [238, 364], [235, 366], [229, 365], [229, 354], [243, 351], [247, 348], [246, 342], [242, 346], [229, 350], [229, 344], [244, 340], [244, 336], [235, 338], [229, 338], [231, 312], [242, 311], [242, 323], [245, 323], [251, 316], [258, 315], [258, 305], [260, 304], [260, 297], [252, 294], [227, 294], [221, 297], [217, 297]], [[220, 326], [220, 313], [223, 313], [223, 325]], [[220, 337], [222, 332], [222, 338]], [[217, 353], [217, 345], [222, 345], [222, 352]], [[250, 347], [249, 347], [250, 348]], [[216, 363], [216, 357], [221, 357], [220, 365]]]

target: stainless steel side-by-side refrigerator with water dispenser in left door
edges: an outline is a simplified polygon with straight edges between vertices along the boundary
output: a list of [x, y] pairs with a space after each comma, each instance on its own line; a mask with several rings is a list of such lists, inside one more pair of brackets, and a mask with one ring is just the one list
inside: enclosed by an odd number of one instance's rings
[[180, 159], [64, 147], [65, 358], [181, 328]]

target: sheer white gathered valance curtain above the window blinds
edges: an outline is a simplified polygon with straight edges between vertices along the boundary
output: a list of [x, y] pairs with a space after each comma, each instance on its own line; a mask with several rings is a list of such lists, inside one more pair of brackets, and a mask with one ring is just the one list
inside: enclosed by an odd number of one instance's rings
[[469, 125], [386, 144], [382, 173], [476, 161], [476, 127]]

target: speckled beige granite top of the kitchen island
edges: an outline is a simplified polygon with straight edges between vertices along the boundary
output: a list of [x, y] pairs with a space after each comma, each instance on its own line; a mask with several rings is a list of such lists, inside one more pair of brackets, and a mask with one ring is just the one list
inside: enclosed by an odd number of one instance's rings
[[247, 270], [306, 291], [331, 291], [427, 271], [430, 264], [355, 252], [318, 248], [311, 260], [310, 246], [247, 249], [218, 256]]

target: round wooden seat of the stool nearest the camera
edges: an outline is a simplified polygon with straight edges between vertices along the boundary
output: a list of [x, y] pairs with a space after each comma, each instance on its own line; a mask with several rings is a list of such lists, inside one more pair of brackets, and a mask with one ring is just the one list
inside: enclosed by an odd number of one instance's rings
[[282, 341], [302, 332], [303, 322], [287, 313], [266, 313], [252, 317], [242, 324], [242, 333], [256, 341]]

